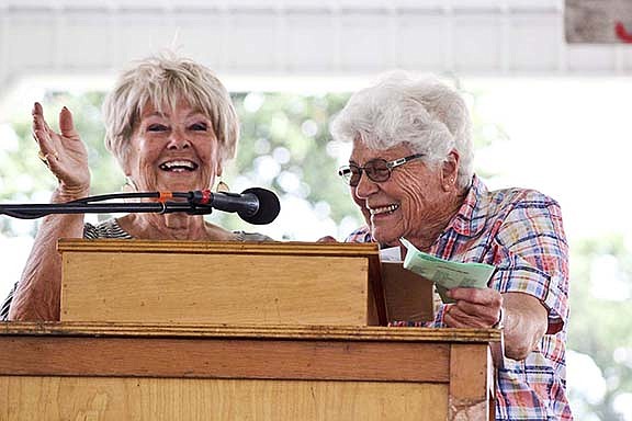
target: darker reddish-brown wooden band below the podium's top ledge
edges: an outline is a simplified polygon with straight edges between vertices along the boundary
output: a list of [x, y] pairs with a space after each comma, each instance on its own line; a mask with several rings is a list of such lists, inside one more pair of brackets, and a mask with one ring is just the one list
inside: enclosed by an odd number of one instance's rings
[[8, 375], [447, 383], [449, 359], [439, 343], [0, 337]]

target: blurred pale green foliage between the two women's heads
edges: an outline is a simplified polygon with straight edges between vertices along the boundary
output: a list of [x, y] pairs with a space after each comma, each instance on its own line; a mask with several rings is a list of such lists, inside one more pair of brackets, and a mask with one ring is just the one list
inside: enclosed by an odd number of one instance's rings
[[[356, 215], [360, 223], [348, 187], [338, 177], [337, 160], [327, 152], [332, 144], [329, 121], [348, 99], [349, 94], [334, 93], [234, 93], [241, 139], [229, 178], [245, 175], [256, 185], [270, 187], [281, 196], [295, 195], [312, 205], [327, 203], [336, 224], [348, 215]], [[257, 171], [262, 158], [272, 158], [269, 162], [279, 166], [272, 171], [276, 174], [272, 180], [262, 179]], [[283, 182], [287, 178], [295, 182]], [[233, 228], [234, 218], [225, 217], [222, 225]]]

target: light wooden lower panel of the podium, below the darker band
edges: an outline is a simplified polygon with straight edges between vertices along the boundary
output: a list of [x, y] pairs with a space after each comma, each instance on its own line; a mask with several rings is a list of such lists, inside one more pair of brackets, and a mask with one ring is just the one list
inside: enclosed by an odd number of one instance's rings
[[409, 383], [0, 377], [0, 420], [443, 421], [445, 389]]

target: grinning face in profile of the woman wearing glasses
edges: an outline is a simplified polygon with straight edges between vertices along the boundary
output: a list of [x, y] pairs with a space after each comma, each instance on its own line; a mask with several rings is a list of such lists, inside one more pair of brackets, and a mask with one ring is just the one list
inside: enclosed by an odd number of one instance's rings
[[[393, 161], [411, 153], [404, 144], [375, 150], [354, 141], [349, 162], [363, 167], [372, 159]], [[351, 190], [353, 201], [369, 218], [373, 237], [390, 246], [398, 244], [400, 237], [416, 246], [432, 243], [455, 213], [452, 167], [435, 169], [416, 159], [394, 168], [384, 182], [371, 181], [363, 172]]]

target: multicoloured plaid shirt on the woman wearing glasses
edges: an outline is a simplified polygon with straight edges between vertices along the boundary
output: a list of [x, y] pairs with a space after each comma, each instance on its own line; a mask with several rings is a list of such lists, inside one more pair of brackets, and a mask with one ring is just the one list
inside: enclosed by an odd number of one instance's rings
[[[374, 241], [369, 227], [349, 242]], [[497, 268], [489, 287], [537, 297], [549, 310], [549, 330], [526, 360], [505, 359], [497, 369], [497, 420], [572, 420], [566, 398], [568, 247], [558, 204], [533, 190], [489, 192], [474, 175], [459, 213], [429, 253]], [[425, 327], [445, 327], [444, 306]], [[416, 323], [397, 323], [416, 326]]]

